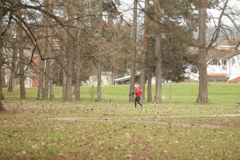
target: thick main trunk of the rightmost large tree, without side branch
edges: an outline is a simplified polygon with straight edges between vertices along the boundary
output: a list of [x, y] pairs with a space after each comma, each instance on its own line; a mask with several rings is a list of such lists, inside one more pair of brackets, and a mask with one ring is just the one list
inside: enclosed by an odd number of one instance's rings
[[199, 38], [198, 38], [198, 54], [199, 54], [199, 93], [197, 103], [208, 103], [208, 86], [207, 86], [207, 63], [206, 63], [206, 4], [199, 6]]

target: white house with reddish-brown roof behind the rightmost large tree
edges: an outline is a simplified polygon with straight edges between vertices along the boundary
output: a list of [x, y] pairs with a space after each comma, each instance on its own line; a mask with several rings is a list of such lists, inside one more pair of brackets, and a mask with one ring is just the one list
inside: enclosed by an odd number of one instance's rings
[[[225, 40], [210, 49], [207, 54], [207, 74], [209, 82], [240, 82], [240, 48], [235, 46], [239, 40]], [[198, 50], [191, 50], [197, 53]], [[198, 74], [191, 73], [191, 79], [198, 81]]]

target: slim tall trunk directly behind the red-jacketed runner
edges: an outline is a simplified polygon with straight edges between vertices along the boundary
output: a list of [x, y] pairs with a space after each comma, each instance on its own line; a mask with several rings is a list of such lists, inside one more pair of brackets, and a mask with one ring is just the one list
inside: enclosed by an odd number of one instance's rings
[[[132, 54], [131, 54], [131, 79], [129, 93], [134, 91], [135, 85], [135, 59], [136, 59], [136, 40], [137, 40], [137, 2], [134, 0], [133, 8], [133, 36], [132, 36]], [[129, 96], [129, 102], [134, 101], [134, 96]]]

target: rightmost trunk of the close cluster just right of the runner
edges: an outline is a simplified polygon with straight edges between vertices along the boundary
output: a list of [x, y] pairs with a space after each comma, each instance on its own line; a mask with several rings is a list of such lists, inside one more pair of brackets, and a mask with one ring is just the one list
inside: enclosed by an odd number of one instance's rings
[[157, 4], [154, 1], [154, 21], [155, 21], [155, 75], [156, 75], [156, 90], [155, 90], [155, 103], [162, 102], [162, 55], [161, 55], [161, 36], [159, 33], [159, 24], [157, 23], [160, 17], [158, 16]]

